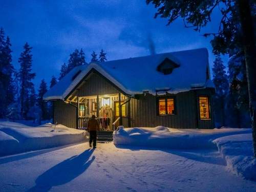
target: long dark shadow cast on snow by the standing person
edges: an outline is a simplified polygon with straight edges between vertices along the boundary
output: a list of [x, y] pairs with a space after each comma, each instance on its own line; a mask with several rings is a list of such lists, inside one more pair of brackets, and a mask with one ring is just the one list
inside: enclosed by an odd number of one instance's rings
[[48, 191], [53, 186], [62, 185], [72, 181], [85, 172], [92, 164], [95, 156], [93, 156], [91, 160], [89, 159], [92, 156], [93, 151], [93, 149], [86, 150], [80, 155], [66, 159], [48, 169], [35, 180], [36, 185], [28, 191]]

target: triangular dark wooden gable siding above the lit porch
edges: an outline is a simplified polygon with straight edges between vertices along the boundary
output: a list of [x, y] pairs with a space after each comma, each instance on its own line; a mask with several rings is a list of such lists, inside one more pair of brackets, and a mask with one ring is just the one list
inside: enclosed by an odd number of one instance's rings
[[83, 83], [81, 83], [75, 95], [81, 97], [115, 93], [119, 93], [119, 91], [112, 86], [110, 82], [104, 79], [101, 75], [92, 73]]

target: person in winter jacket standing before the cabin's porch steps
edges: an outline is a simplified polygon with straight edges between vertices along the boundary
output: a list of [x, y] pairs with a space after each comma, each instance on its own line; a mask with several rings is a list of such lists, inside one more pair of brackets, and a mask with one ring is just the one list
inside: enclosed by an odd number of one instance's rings
[[96, 148], [96, 141], [97, 141], [97, 131], [99, 131], [99, 122], [95, 119], [95, 115], [92, 115], [92, 118], [88, 121], [88, 132], [90, 133], [90, 147]]

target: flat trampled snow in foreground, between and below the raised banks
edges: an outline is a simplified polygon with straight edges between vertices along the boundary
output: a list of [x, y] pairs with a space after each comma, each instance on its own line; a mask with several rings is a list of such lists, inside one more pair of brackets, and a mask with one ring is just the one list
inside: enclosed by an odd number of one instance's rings
[[0, 158], [1, 191], [256, 191], [214, 150], [88, 142]]

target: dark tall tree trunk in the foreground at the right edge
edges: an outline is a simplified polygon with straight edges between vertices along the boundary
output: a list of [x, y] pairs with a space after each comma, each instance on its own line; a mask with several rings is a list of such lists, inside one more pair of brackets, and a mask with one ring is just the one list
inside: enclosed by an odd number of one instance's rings
[[256, 157], [256, 48], [249, 0], [238, 0], [248, 81], [253, 153]]

